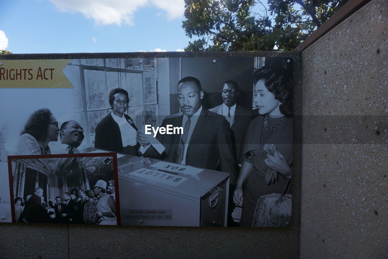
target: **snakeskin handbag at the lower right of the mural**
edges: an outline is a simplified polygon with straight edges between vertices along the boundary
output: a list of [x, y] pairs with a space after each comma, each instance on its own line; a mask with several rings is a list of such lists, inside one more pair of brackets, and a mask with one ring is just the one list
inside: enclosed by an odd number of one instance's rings
[[282, 193], [260, 196], [255, 208], [253, 227], [288, 227], [291, 222], [292, 195], [286, 194], [291, 187], [288, 180]]

